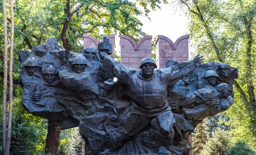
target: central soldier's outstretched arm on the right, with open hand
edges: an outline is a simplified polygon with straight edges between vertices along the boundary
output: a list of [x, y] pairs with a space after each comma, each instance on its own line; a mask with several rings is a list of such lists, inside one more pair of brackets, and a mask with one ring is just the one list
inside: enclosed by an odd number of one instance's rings
[[178, 80], [189, 75], [195, 68], [204, 62], [203, 56], [199, 54], [193, 60], [178, 63], [172, 67], [158, 69], [160, 77], [168, 82], [168, 85], [175, 84]]

